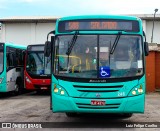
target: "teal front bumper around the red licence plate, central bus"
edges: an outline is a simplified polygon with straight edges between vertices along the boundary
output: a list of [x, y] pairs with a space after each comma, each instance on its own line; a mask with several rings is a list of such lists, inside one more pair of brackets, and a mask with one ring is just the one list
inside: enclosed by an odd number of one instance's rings
[[[103, 106], [91, 105], [92, 100], [105, 101]], [[145, 95], [111, 99], [72, 98], [52, 95], [53, 112], [77, 113], [144, 113]]]

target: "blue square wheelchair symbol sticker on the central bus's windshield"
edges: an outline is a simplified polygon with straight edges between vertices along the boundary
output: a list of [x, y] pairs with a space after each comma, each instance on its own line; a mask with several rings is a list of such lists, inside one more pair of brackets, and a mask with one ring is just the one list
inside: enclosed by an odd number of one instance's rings
[[101, 66], [99, 70], [99, 76], [101, 78], [110, 77], [110, 67], [109, 66]]

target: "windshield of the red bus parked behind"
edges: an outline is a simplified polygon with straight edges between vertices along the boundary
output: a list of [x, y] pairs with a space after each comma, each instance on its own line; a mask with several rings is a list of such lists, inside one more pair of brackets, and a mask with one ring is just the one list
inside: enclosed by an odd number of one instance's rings
[[49, 75], [50, 67], [48, 65], [50, 64], [47, 59], [43, 52], [28, 52], [26, 70], [33, 75]]

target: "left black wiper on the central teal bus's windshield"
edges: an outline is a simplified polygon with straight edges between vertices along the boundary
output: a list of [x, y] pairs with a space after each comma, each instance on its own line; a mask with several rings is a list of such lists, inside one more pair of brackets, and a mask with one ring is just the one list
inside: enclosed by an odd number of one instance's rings
[[79, 32], [76, 31], [74, 36], [73, 36], [73, 38], [72, 38], [72, 40], [70, 41], [69, 47], [68, 47], [67, 52], [66, 52], [66, 55], [68, 55], [68, 56], [71, 54], [71, 51], [72, 51], [72, 49], [74, 47], [74, 44], [76, 43], [76, 40], [77, 40], [77, 37], [78, 37], [78, 33]]

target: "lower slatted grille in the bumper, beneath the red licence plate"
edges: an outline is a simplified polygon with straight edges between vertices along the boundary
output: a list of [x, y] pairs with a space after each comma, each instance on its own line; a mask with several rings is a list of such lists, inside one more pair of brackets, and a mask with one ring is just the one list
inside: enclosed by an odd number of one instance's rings
[[76, 103], [78, 108], [83, 109], [118, 109], [120, 106], [120, 103], [117, 104], [106, 104], [104, 106], [96, 106], [91, 104], [82, 104], [82, 103]]

